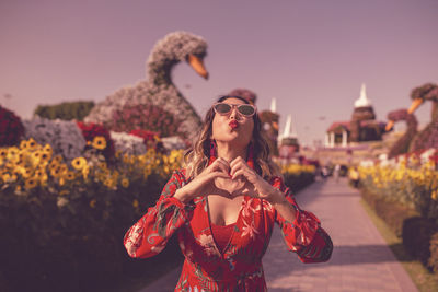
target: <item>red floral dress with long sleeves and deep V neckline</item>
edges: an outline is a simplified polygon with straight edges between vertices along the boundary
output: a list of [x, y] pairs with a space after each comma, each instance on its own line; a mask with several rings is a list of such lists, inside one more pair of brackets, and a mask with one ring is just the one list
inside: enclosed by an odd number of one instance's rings
[[185, 261], [175, 291], [266, 291], [262, 257], [269, 244], [274, 222], [284, 234], [287, 248], [302, 262], [327, 261], [333, 250], [320, 220], [301, 210], [281, 178], [270, 184], [283, 191], [297, 211], [288, 222], [263, 199], [244, 196], [228, 245], [219, 252], [211, 233], [207, 197], [183, 205], [173, 197], [189, 179], [185, 170], [175, 171], [154, 207], [125, 234], [130, 257], [148, 258], [164, 249], [176, 233]]

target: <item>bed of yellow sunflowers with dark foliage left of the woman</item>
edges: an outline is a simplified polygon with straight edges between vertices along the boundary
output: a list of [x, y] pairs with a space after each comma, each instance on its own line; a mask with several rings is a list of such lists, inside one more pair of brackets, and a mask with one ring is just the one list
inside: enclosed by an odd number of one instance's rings
[[[112, 166], [84, 157], [67, 164], [27, 140], [0, 157], [0, 275], [12, 291], [103, 290], [161, 265], [130, 259], [123, 236], [155, 202], [182, 151], [116, 153]], [[177, 260], [175, 250], [161, 261]]]

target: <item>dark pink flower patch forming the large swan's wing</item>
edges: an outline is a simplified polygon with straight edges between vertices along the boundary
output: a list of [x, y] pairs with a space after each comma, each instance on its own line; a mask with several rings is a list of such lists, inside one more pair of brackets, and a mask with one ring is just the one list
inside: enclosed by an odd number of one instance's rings
[[182, 120], [155, 105], [124, 106], [120, 110], [114, 112], [113, 117], [113, 121], [108, 124], [113, 131], [130, 132], [142, 129], [155, 132], [160, 137], [181, 135], [178, 126]]

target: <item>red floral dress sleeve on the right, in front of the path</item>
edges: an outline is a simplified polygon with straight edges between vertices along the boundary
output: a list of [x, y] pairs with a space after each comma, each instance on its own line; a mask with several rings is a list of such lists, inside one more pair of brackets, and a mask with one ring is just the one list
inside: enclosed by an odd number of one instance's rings
[[285, 194], [297, 212], [293, 222], [289, 222], [275, 211], [275, 221], [280, 226], [288, 249], [297, 253], [302, 262], [327, 261], [333, 252], [333, 243], [321, 227], [321, 221], [312, 212], [299, 208], [291, 190], [280, 177], [273, 179], [273, 186]]

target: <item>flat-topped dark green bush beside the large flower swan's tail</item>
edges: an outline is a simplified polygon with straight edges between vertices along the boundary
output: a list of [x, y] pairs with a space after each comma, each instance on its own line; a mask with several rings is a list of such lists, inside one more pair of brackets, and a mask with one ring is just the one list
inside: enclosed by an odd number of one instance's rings
[[38, 105], [34, 115], [48, 119], [83, 120], [94, 107], [94, 102], [71, 102], [57, 105]]

